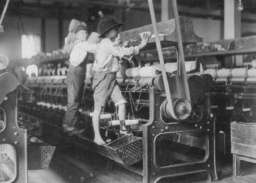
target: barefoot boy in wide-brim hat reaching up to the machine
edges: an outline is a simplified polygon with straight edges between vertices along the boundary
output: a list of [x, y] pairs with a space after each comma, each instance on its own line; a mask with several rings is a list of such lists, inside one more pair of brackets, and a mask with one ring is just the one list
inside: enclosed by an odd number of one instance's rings
[[139, 50], [146, 46], [148, 38], [146, 35], [142, 37], [139, 46], [125, 47], [128, 41], [123, 43], [123, 46], [115, 44], [113, 41], [118, 36], [118, 28], [123, 24], [117, 23], [114, 19], [103, 19], [100, 21], [98, 28], [100, 38], [100, 47], [97, 52], [93, 69], [95, 75], [93, 76], [92, 89], [94, 90], [94, 112], [93, 112], [93, 129], [95, 132], [94, 141], [98, 145], [104, 145], [105, 142], [100, 136], [100, 114], [102, 106], [111, 98], [118, 106], [118, 117], [120, 120], [125, 120], [127, 101], [123, 97], [121, 90], [116, 81], [116, 74], [119, 71], [118, 57], [122, 58], [125, 55], [138, 54]]

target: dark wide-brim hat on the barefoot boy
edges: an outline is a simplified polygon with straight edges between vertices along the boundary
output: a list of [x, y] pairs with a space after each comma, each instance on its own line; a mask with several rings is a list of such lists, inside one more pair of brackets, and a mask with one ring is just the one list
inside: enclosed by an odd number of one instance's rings
[[111, 18], [102, 19], [98, 25], [98, 30], [99, 30], [99, 34], [100, 34], [99, 38], [102, 38], [104, 36], [104, 34], [108, 31], [110, 31], [111, 29], [118, 29], [122, 25], [124, 25], [124, 24], [117, 23], [116, 20], [111, 19]]

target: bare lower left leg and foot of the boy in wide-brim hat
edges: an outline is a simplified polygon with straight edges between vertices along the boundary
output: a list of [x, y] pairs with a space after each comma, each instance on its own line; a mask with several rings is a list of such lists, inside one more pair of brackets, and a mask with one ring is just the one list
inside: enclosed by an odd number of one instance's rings
[[106, 143], [100, 136], [100, 113], [101, 111], [94, 110], [93, 116], [92, 116], [92, 124], [94, 129], [94, 142], [97, 143], [97, 145], [104, 145]]

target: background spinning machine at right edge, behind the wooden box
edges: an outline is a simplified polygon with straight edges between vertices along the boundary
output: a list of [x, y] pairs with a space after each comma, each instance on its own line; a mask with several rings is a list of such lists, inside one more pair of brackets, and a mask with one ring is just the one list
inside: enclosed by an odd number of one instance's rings
[[247, 67], [203, 71], [214, 78], [211, 109], [218, 122], [217, 150], [228, 156], [231, 155], [231, 122], [255, 123], [255, 63], [256, 60], [252, 60]]

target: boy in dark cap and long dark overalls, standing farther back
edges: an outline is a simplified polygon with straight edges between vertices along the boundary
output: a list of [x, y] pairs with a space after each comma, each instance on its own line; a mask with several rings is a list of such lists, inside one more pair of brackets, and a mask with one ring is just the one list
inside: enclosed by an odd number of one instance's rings
[[70, 135], [82, 133], [84, 129], [75, 129], [78, 121], [79, 104], [82, 102], [84, 91], [84, 80], [86, 79], [86, 56], [87, 53], [96, 53], [99, 43], [87, 42], [88, 31], [83, 24], [76, 25], [74, 29], [76, 36], [75, 45], [70, 53], [70, 66], [67, 73], [67, 111], [63, 128]]

